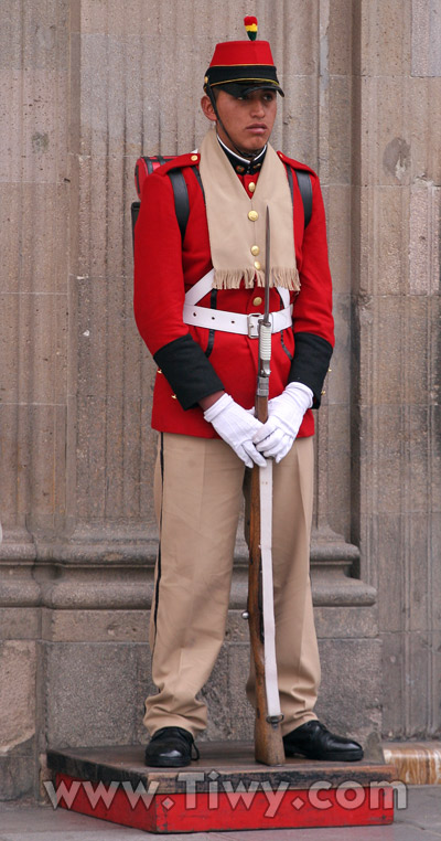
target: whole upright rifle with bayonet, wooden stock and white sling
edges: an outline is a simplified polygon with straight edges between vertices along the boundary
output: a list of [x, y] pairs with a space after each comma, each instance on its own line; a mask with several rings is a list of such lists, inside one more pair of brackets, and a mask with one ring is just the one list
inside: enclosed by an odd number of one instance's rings
[[[265, 263], [265, 315], [259, 320], [259, 372], [256, 391], [256, 417], [265, 424], [268, 419], [268, 393], [271, 359], [271, 321], [269, 317], [269, 280], [270, 280], [270, 224], [269, 210], [266, 217], [266, 263]], [[269, 487], [268, 487], [269, 485]], [[266, 487], [267, 486], [267, 487]], [[261, 489], [266, 487], [268, 499], [265, 517], [261, 517]], [[271, 502], [272, 502], [272, 461], [266, 468], [255, 465], [251, 469], [249, 488], [249, 571], [248, 571], [248, 610], [246, 618], [249, 624], [251, 653], [256, 674], [256, 722], [255, 722], [255, 758], [265, 765], [282, 765], [284, 750], [280, 722], [279, 692], [277, 688], [275, 619], [272, 605], [271, 574]], [[269, 509], [269, 511], [268, 511]], [[265, 509], [263, 509], [265, 510]], [[262, 520], [267, 528], [262, 532]], [[262, 564], [262, 554], [267, 552]], [[269, 582], [266, 581], [269, 576]], [[269, 610], [263, 614], [265, 600], [269, 600]], [[269, 616], [268, 616], [269, 614]], [[265, 648], [265, 628], [269, 634]], [[266, 667], [271, 670], [270, 678]]]

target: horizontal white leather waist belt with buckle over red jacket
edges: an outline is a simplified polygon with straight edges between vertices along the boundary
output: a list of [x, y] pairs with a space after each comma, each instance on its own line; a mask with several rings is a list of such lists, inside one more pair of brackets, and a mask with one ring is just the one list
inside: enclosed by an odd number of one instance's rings
[[[241, 312], [227, 312], [223, 309], [211, 309], [209, 307], [192, 307], [184, 304], [183, 320], [186, 324], [195, 327], [205, 327], [208, 330], [222, 330], [224, 333], [240, 333], [248, 336], [249, 339], [257, 339], [259, 336], [259, 319], [263, 318], [262, 312], [250, 312], [245, 316]], [[292, 326], [292, 305], [284, 309], [270, 312], [271, 333], [280, 333]]]

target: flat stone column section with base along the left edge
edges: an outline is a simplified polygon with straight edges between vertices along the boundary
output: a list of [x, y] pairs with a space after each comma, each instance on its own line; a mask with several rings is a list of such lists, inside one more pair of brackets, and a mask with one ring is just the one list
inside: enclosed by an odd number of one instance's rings
[[66, 513], [68, 17], [1, 7], [0, 798], [34, 779], [39, 535]]

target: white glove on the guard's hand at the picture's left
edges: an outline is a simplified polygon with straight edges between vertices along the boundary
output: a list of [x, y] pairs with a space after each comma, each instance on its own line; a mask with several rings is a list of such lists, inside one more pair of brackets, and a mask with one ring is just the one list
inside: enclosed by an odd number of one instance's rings
[[204, 412], [204, 418], [213, 424], [216, 433], [229, 444], [247, 467], [252, 467], [252, 462], [266, 467], [263, 456], [252, 444], [252, 436], [263, 424], [246, 408], [235, 403], [229, 394], [223, 394], [216, 403], [213, 403], [213, 406]]

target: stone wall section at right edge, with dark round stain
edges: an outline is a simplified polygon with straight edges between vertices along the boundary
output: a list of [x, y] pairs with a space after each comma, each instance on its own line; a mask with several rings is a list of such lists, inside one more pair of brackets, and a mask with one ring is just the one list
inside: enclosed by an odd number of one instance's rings
[[378, 590], [395, 738], [441, 723], [440, 13], [354, 3], [353, 534]]

